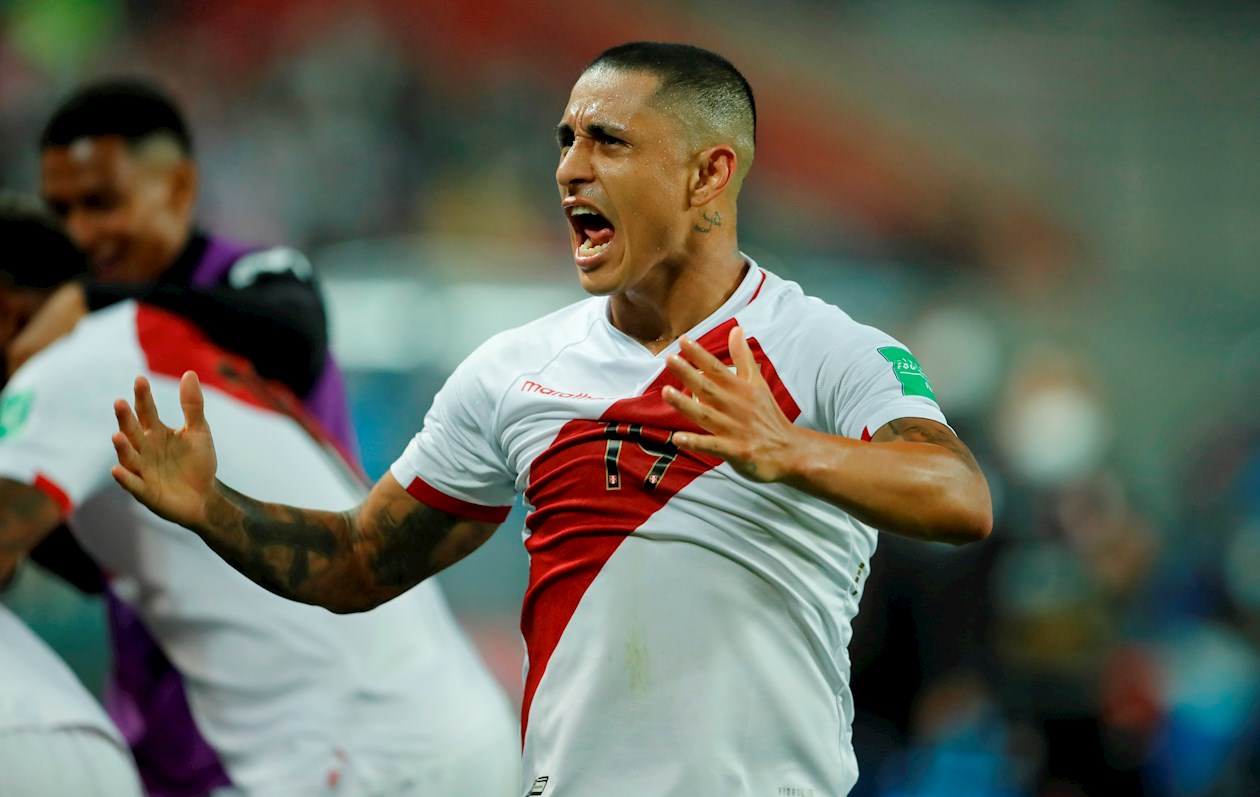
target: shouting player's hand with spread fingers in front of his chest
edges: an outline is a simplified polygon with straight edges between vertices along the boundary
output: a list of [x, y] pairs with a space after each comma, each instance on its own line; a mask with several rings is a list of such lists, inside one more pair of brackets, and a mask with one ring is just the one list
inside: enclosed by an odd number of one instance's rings
[[779, 408], [770, 385], [761, 376], [743, 330], [735, 327], [728, 339], [735, 373], [693, 340], [683, 339], [680, 354], [667, 366], [690, 395], [665, 388], [665, 402], [694, 421], [709, 434], [674, 433], [679, 448], [711, 453], [756, 481], [779, 481], [791, 457], [798, 427]]

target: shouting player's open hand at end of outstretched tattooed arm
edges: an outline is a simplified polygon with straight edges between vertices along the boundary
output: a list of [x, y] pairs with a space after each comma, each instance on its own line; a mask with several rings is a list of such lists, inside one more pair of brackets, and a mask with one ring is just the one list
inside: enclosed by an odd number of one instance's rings
[[158, 515], [195, 528], [207, 520], [207, 505], [217, 490], [218, 460], [205, 423], [202, 385], [193, 371], [179, 380], [179, 403], [184, 428], [175, 431], [158, 417], [149, 380], [136, 376], [135, 413], [123, 399], [113, 403], [118, 465], [110, 473]]

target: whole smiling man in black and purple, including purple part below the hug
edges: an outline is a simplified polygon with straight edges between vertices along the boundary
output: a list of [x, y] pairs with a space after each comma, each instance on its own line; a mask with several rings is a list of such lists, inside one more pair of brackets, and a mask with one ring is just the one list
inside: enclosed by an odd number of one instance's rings
[[[40, 181], [91, 278], [67, 283], [8, 349], [10, 369], [73, 329], [89, 310], [125, 298], [166, 307], [287, 385], [357, 456], [340, 373], [328, 353], [323, 300], [307, 259], [251, 247], [194, 222], [198, 169], [174, 101], [137, 79], [89, 83], [68, 97], [40, 137]], [[34, 558], [84, 591], [96, 568], [59, 531]], [[183, 684], [144, 625], [106, 592], [115, 666], [106, 708], [131, 743], [155, 797], [197, 797], [227, 782], [199, 738]]]

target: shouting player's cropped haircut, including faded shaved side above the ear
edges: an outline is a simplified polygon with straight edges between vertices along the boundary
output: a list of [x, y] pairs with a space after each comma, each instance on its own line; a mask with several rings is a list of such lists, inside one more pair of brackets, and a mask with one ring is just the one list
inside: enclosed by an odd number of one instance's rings
[[678, 113], [697, 145], [733, 145], [742, 180], [757, 144], [757, 105], [731, 62], [690, 44], [630, 42], [600, 53], [583, 73], [601, 68], [655, 76], [660, 86], [654, 101]]

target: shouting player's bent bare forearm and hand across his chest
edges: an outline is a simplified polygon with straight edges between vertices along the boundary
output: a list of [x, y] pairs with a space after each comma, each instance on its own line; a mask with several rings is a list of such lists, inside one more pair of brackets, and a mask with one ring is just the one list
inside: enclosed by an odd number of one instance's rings
[[949, 427], [900, 418], [871, 443], [799, 427], [775, 402], [740, 327], [730, 348], [735, 373], [690, 340], [669, 358], [689, 394], [665, 388], [665, 402], [708, 432], [677, 432], [679, 448], [718, 456], [755, 481], [796, 487], [882, 531], [954, 544], [988, 536], [988, 482]]

